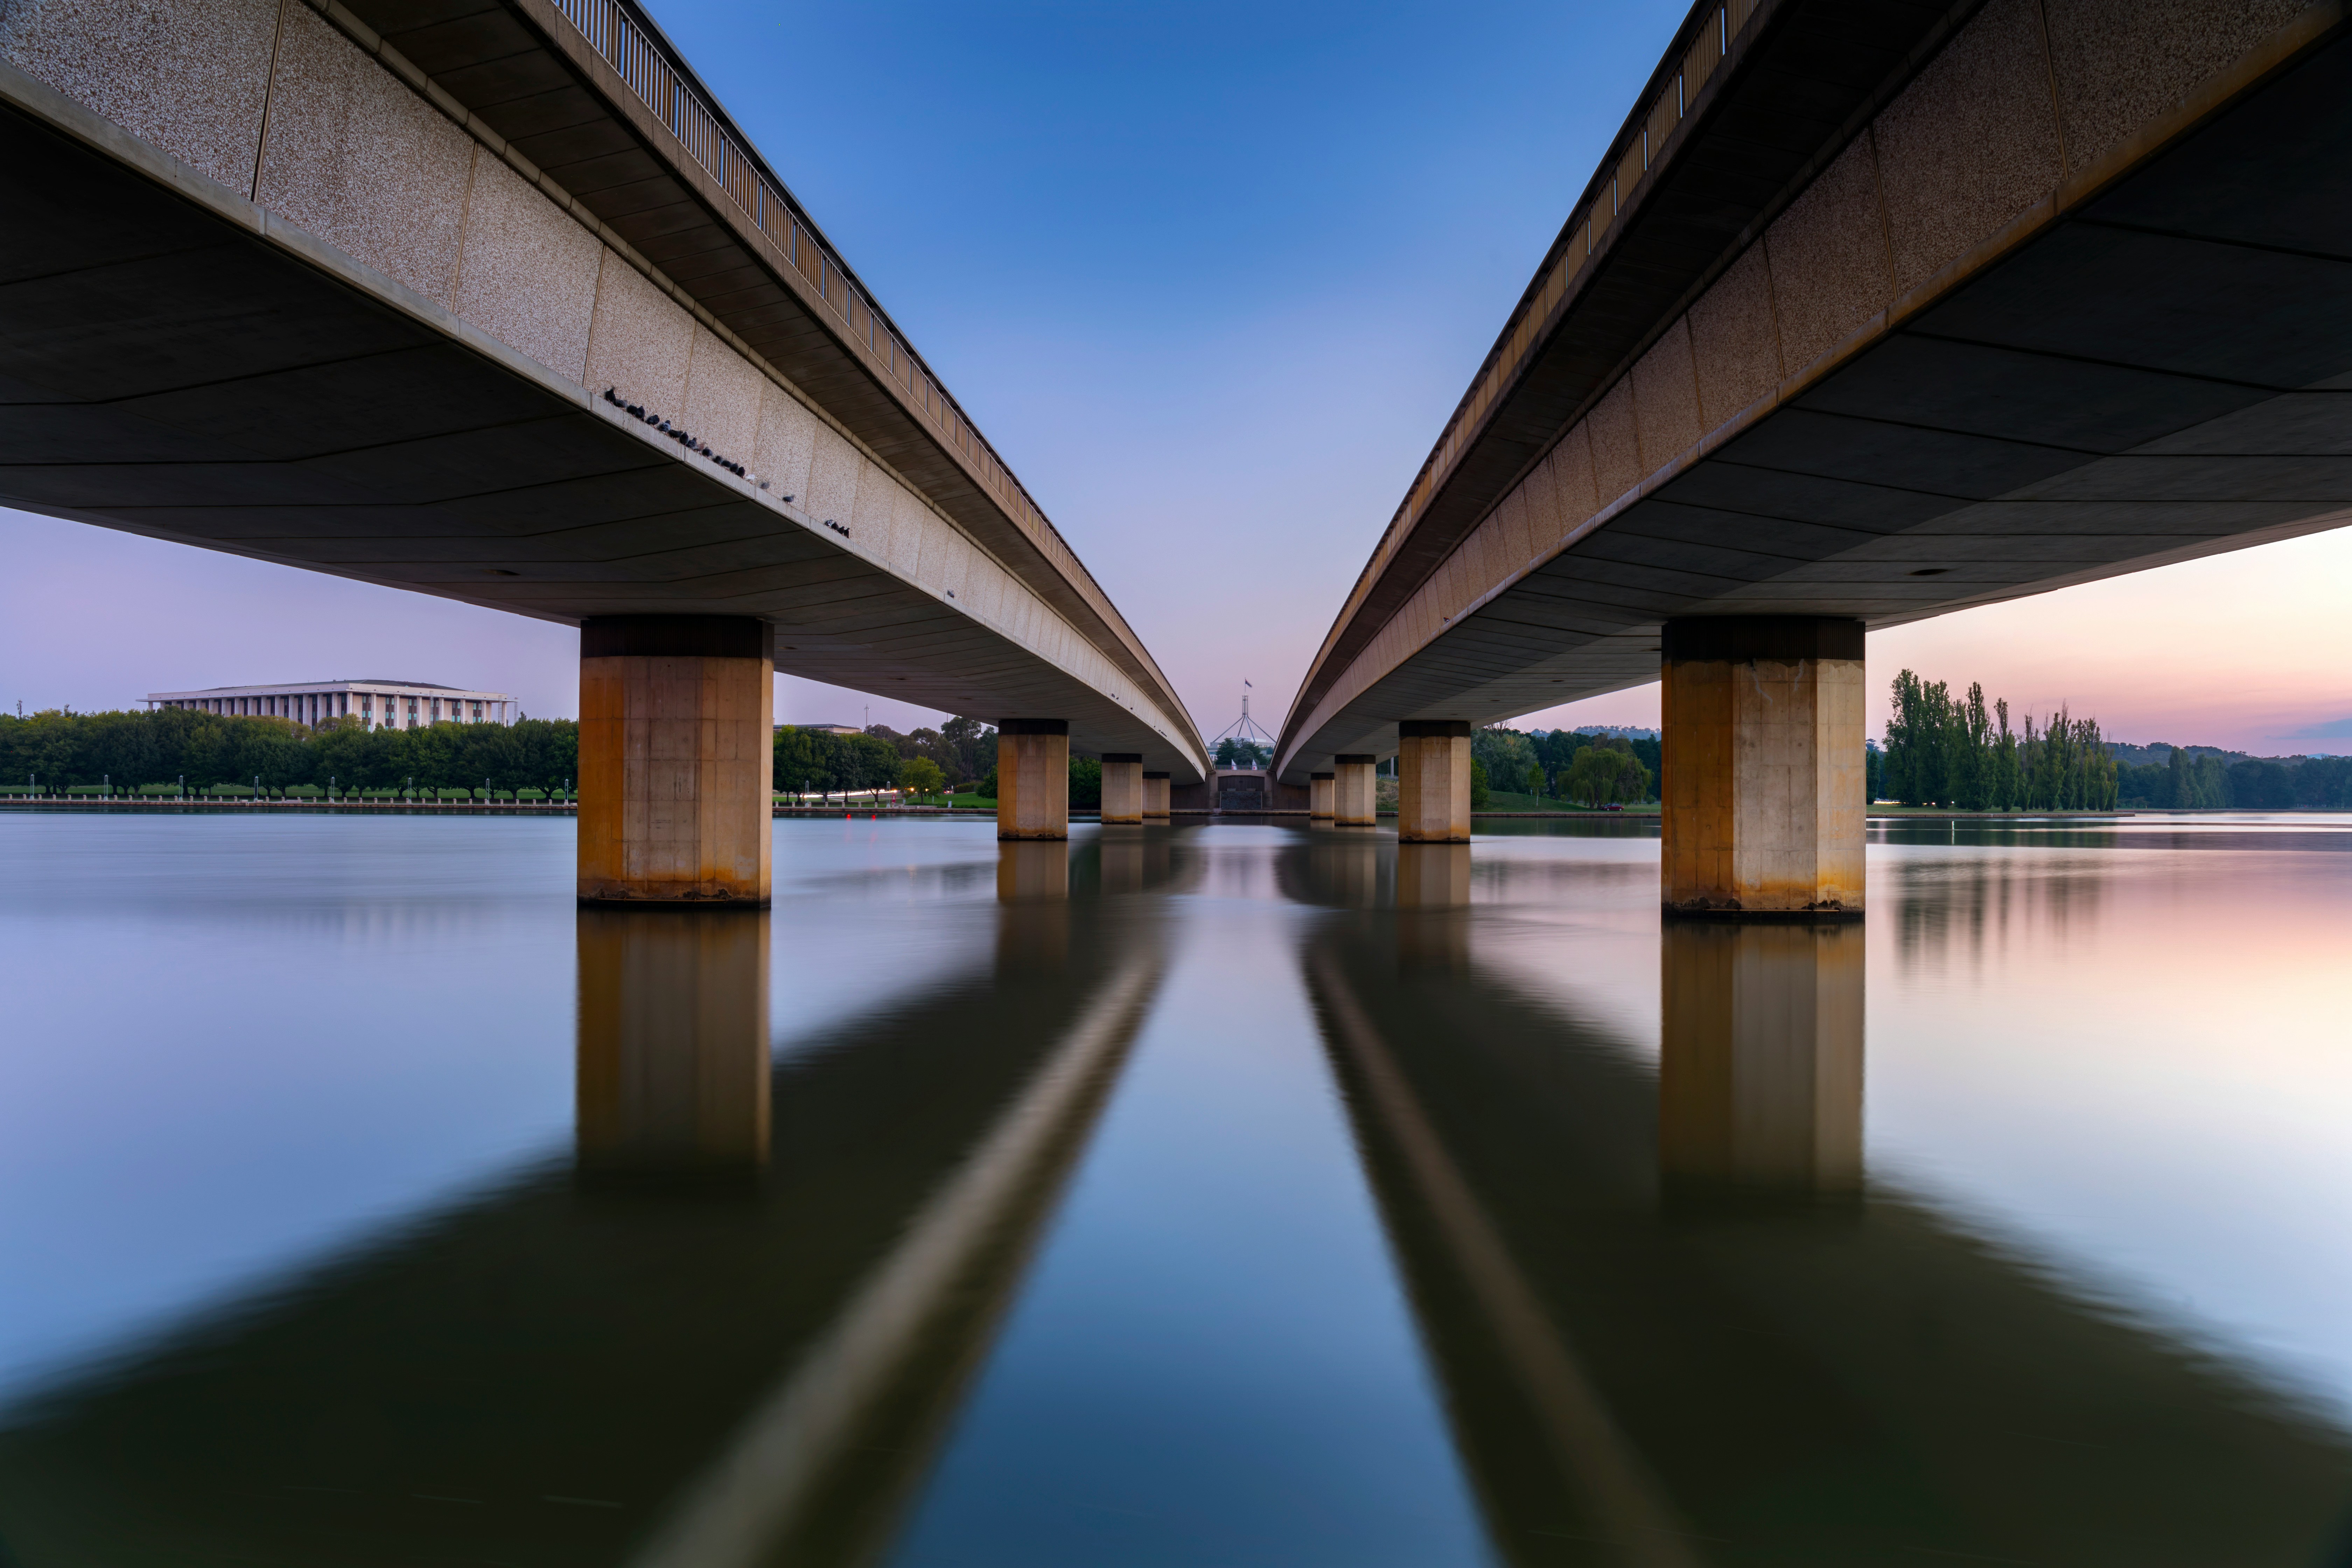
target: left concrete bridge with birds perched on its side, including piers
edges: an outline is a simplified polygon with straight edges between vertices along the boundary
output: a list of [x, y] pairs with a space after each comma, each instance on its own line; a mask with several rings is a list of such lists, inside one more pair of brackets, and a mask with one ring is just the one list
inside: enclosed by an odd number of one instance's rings
[[767, 898], [774, 670], [997, 719], [1011, 835], [1207, 776], [626, 0], [7, 0], [0, 207], [0, 503], [581, 625], [588, 898]]

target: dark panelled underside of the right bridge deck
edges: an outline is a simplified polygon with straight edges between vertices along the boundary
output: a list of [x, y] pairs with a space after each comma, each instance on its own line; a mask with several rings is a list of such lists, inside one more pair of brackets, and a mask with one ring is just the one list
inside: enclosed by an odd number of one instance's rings
[[2338, 38], [1599, 512], [1562, 501], [1552, 543], [1534, 498], [1515, 536], [1491, 520], [1432, 578], [1461, 574], [1451, 614], [1425, 590], [1421, 625], [1301, 703], [1282, 778], [1392, 752], [1399, 719], [1491, 724], [1653, 682], [1670, 618], [1889, 628], [2338, 527], [2347, 146]]

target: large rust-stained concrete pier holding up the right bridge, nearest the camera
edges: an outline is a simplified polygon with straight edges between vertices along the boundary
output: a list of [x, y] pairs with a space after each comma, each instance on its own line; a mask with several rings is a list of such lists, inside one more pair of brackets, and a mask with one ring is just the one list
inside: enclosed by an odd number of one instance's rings
[[1863, 623], [1665, 625], [1663, 879], [1675, 914], [1863, 912]]

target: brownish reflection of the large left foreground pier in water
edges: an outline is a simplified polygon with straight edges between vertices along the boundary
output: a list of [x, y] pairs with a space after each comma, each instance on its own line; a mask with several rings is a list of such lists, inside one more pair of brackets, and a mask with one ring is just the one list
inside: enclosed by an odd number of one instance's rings
[[750, 1175], [769, 1147], [767, 912], [579, 912], [579, 1166]]

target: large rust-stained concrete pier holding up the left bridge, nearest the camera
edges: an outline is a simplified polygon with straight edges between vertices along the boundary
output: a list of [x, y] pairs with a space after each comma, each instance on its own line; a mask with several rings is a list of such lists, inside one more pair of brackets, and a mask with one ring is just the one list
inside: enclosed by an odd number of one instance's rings
[[750, 616], [581, 623], [583, 900], [767, 903], [774, 649]]

